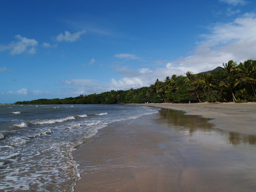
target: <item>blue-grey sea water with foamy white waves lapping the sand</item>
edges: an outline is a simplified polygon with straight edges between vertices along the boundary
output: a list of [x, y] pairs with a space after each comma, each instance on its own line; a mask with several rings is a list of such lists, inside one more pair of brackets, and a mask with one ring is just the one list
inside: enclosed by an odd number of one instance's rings
[[135, 105], [0, 105], [0, 190], [72, 191], [72, 151], [111, 123], [157, 108]]

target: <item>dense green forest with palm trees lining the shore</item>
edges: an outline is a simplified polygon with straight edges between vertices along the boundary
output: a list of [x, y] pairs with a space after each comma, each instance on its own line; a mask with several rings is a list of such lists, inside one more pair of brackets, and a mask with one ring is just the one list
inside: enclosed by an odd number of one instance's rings
[[[219, 69], [219, 70], [218, 70]], [[256, 60], [235, 63], [204, 73], [172, 75], [162, 82], [156, 79], [150, 87], [111, 90], [100, 94], [65, 99], [37, 99], [16, 104], [117, 104], [117, 103], [188, 103], [255, 102]]]

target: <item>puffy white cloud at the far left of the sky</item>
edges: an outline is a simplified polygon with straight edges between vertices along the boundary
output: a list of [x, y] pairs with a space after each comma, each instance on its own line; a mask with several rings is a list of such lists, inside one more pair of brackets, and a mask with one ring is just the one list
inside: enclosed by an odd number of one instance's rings
[[7, 46], [0, 46], [0, 51], [10, 50], [11, 55], [21, 54], [27, 52], [29, 54], [36, 53], [36, 46], [38, 42], [35, 39], [28, 39], [26, 37], [22, 37], [19, 34], [15, 36], [17, 41], [9, 43]]

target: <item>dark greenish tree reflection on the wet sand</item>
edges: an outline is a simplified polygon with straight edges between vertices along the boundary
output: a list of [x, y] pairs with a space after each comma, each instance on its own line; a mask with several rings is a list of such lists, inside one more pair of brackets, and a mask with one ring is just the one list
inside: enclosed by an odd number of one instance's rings
[[[219, 135], [225, 135], [228, 143], [232, 145], [239, 145], [248, 143], [256, 145], [256, 135], [246, 135], [235, 132], [224, 132], [216, 129], [213, 123], [209, 123], [210, 118], [203, 118], [200, 115], [186, 115], [184, 111], [165, 109], [159, 110], [160, 118], [156, 119], [157, 123], [162, 124], [166, 122], [170, 127], [176, 127], [179, 130], [189, 131], [193, 135], [196, 131], [218, 132]], [[182, 127], [182, 128], [181, 128]]]

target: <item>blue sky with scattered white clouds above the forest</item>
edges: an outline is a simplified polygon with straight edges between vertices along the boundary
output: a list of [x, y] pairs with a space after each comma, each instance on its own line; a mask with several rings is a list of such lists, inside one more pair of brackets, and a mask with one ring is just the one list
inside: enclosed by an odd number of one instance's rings
[[0, 103], [127, 90], [256, 59], [256, 2], [0, 0]]

